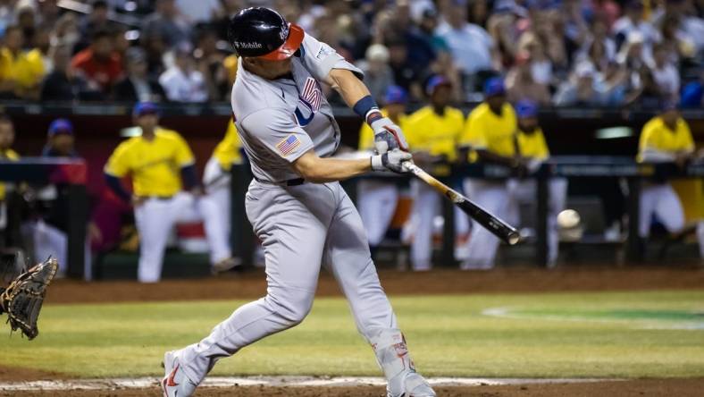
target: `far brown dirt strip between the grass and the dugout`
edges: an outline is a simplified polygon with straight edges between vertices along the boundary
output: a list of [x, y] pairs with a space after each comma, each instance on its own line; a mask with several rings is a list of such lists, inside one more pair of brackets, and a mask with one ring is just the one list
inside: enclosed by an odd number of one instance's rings
[[[489, 272], [433, 270], [414, 273], [381, 271], [381, 283], [391, 295], [435, 293], [491, 293], [543, 291], [634, 291], [704, 288], [701, 267], [567, 267], [544, 270], [532, 267]], [[197, 280], [163, 283], [84, 283], [57, 280], [48, 292], [49, 303], [101, 303], [138, 300], [220, 300], [258, 298], [264, 295], [264, 271]], [[339, 295], [331, 275], [323, 272], [318, 296]]]

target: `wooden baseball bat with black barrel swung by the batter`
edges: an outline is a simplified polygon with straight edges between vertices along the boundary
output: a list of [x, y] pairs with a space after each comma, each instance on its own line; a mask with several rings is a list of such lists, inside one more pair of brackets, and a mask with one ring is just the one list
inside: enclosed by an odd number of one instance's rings
[[431, 185], [433, 189], [440, 191], [443, 196], [455, 203], [466, 215], [469, 215], [502, 241], [506, 241], [509, 245], [514, 245], [521, 240], [521, 234], [515, 230], [513, 226], [502, 221], [499, 217], [491, 215], [487, 210], [476, 205], [472, 200], [459, 194], [457, 190], [450, 189], [448, 185], [438, 181], [430, 173], [423, 171], [418, 165], [406, 162], [403, 163], [403, 167], [407, 172], [413, 173], [423, 182]]

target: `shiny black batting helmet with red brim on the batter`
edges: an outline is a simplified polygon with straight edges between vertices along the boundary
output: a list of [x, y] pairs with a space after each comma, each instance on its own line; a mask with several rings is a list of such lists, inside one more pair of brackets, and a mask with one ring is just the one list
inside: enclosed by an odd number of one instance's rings
[[298, 51], [304, 31], [281, 14], [265, 7], [246, 8], [230, 19], [230, 44], [239, 56], [281, 61]]

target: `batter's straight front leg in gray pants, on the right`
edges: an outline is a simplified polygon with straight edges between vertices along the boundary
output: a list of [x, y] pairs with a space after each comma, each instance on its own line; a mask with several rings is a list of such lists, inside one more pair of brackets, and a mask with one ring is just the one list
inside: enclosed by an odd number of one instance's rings
[[348, 300], [357, 329], [373, 346], [388, 381], [388, 395], [434, 396], [430, 385], [415, 373], [406, 340], [376, 274], [362, 219], [339, 185], [338, 197], [338, 211], [328, 232], [325, 262]]

